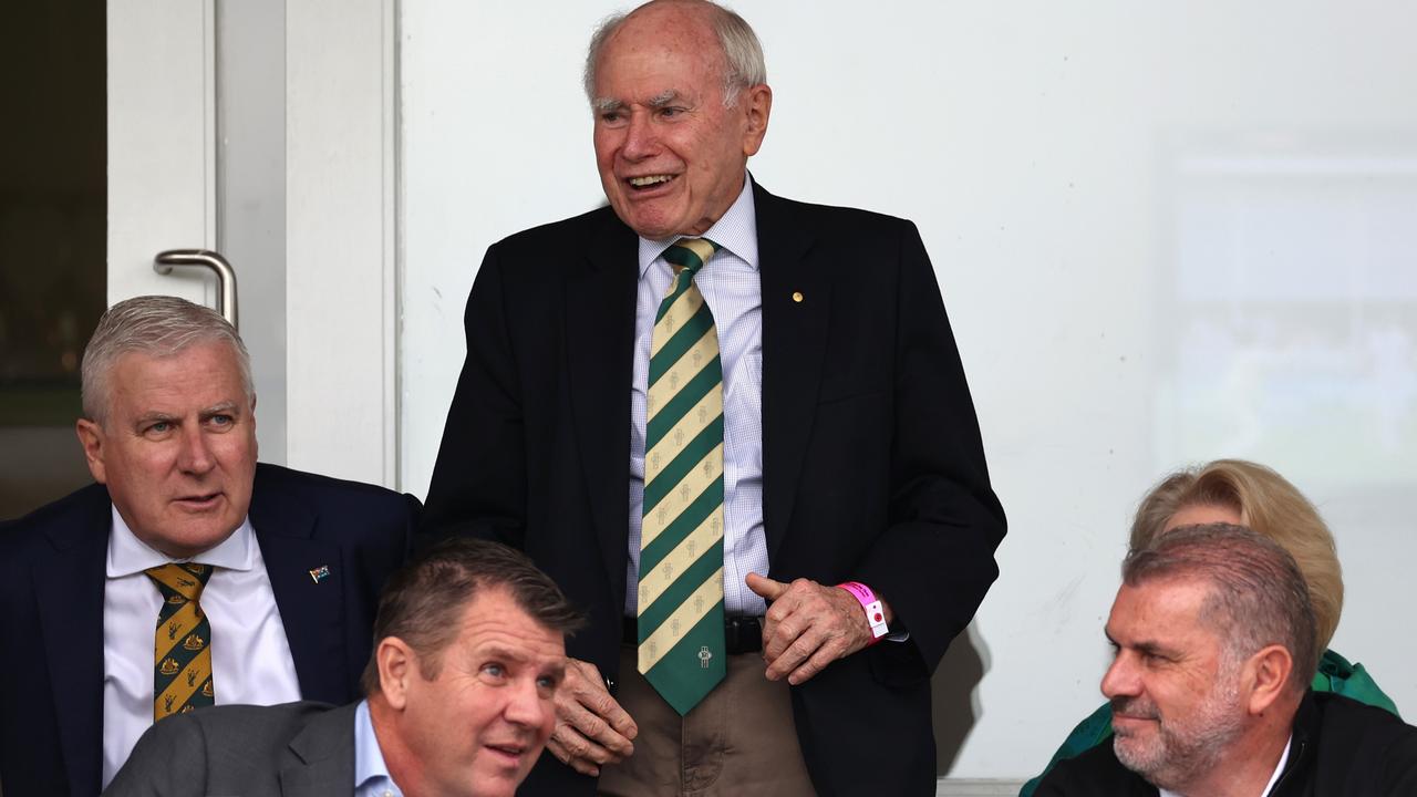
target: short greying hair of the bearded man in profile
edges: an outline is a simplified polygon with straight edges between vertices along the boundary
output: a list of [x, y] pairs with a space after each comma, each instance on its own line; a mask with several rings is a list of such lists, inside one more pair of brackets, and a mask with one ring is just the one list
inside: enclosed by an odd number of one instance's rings
[[1282, 645], [1294, 658], [1287, 686], [1298, 693], [1309, 686], [1319, 665], [1318, 621], [1287, 550], [1244, 526], [1209, 523], [1166, 532], [1122, 562], [1129, 587], [1169, 579], [1210, 583], [1199, 620], [1220, 635], [1229, 664]]

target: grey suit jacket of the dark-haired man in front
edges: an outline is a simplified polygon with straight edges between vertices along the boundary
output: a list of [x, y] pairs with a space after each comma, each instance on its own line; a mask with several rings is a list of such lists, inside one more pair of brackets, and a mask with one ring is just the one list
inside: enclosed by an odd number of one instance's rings
[[349, 797], [354, 709], [214, 706], [143, 733], [105, 797]]

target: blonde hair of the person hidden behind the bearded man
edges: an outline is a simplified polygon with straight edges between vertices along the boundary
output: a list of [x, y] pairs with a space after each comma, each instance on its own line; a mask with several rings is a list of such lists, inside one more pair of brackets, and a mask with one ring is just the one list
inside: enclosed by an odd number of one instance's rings
[[1343, 614], [1343, 570], [1318, 509], [1284, 476], [1257, 462], [1216, 459], [1176, 471], [1142, 498], [1132, 520], [1132, 550], [1152, 540], [1182, 509], [1227, 506], [1240, 522], [1289, 552], [1309, 587], [1319, 650], [1328, 648]]

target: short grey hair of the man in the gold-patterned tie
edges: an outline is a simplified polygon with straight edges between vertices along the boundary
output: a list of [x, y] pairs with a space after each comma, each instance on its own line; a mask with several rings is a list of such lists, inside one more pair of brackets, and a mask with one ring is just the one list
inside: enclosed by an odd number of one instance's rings
[[170, 357], [197, 343], [227, 343], [241, 367], [247, 401], [255, 398], [251, 355], [241, 336], [221, 313], [177, 296], [135, 296], [123, 299], [98, 319], [98, 328], [84, 349], [84, 414], [102, 425], [113, 397], [108, 384], [119, 357], [128, 353]]

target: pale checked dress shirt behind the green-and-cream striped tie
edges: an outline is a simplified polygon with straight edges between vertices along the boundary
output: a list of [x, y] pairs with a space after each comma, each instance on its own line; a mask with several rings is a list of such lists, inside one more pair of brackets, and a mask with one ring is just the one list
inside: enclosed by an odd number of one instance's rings
[[[718, 244], [694, 285], [713, 312], [723, 362], [723, 600], [728, 614], [761, 615], [767, 604], [744, 584], [748, 573], [768, 574], [762, 532], [762, 284], [758, 279], [758, 218], [752, 183], [701, 238]], [[635, 299], [635, 370], [631, 380], [629, 559], [625, 615], [639, 598], [639, 528], [645, 503], [645, 396], [649, 347], [673, 269], [663, 258], [676, 238], [639, 240], [639, 292]]]

